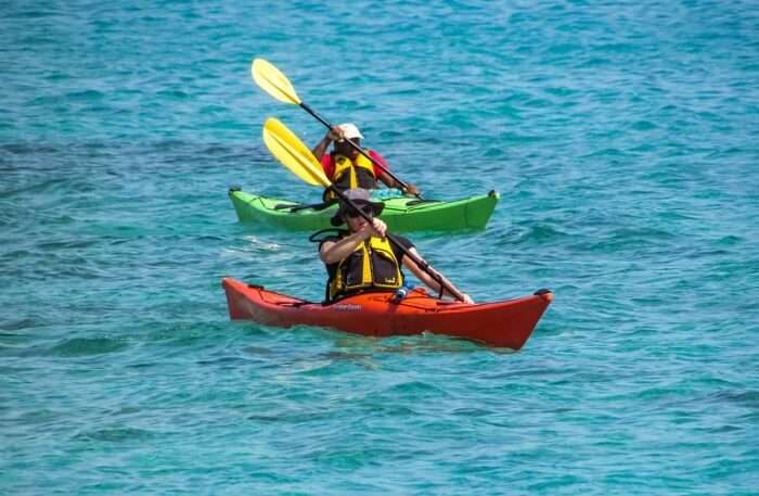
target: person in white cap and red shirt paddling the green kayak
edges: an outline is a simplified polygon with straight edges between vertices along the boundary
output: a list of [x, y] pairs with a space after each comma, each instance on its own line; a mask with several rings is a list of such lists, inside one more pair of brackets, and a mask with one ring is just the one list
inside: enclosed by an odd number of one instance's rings
[[[311, 152], [313, 156], [320, 158], [324, 174], [330, 178], [330, 181], [340, 191], [351, 188], [363, 188], [368, 190], [377, 189], [377, 180], [381, 180], [388, 188], [397, 188], [406, 194], [419, 194], [419, 189], [414, 185], [403, 185], [396, 181], [389, 174], [384, 171], [389, 169], [385, 158], [374, 150], [366, 150], [366, 154], [382, 167], [377, 167], [361, 155], [358, 150], [347, 143], [347, 140], [352, 141], [356, 145], [361, 144], [363, 135], [355, 124], [345, 123], [339, 126], [333, 126], [324, 138], [317, 144]], [[333, 144], [333, 150], [326, 153], [330, 143]], [[335, 194], [330, 190], [324, 192], [324, 201], [335, 200]]]

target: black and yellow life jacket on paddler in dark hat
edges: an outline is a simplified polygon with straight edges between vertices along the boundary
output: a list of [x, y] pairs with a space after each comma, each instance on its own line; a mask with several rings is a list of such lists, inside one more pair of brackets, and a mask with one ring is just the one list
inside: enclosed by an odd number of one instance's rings
[[334, 276], [326, 282], [326, 298], [333, 301], [356, 291], [373, 289], [397, 290], [402, 285], [400, 260], [396, 258], [389, 240], [372, 237], [337, 265]]

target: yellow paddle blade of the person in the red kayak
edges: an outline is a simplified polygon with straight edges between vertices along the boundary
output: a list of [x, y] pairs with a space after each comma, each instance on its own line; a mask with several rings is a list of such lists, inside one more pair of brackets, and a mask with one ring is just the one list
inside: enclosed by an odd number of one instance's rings
[[330, 186], [322, 165], [287, 126], [274, 117], [263, 124], [263, 143], [272, 155], [304, 181], [313, 186]]

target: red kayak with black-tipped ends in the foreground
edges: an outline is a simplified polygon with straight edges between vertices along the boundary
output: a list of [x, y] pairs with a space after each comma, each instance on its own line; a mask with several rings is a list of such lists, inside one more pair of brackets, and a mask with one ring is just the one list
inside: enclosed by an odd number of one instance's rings
[[396, 301], [394, 292], [369, 292], [330, 305], [275, 293], [255, 284], [226, 278], [229, 315], [268, 326], [320, 326], [363, 335], [419, 334], [424, 331], [519, 349], [548, 308], [553, 293], [496, 303], [467, 305], [411, 290]]

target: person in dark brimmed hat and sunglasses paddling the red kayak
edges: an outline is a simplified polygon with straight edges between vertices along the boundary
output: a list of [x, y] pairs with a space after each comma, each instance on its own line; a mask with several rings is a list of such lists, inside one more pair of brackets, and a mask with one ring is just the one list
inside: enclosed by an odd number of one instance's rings
[[[368, 222], [352, 207], [340, 202], [337, 213], [332, 218], [332, 225], [337, 227], [346, 222], [348, 230], [323, 238], [319, 244], [319, 257], [326, 265], [329, 275], [326, 301], [363, 291], [399, 290], [404, 280], [402, 267], [411, 270], [429, 289], [440, 293], [440, 284], [385, 237], [387, 226], [375, 217], [380, 215], [384, 205], [372, 202], [369, 191], [364, 189], [350, 189], [345, 195], [361, 208], [372, 222]], [[394, 238], [423, 260], [411, 241], [399, 236]], [[458, 291], [442, 275], [437, 274]], [[445, 294], [449, 293], [446, 291]], [[464, 294], [464, 302], [474, 303], [467, 294]]]

